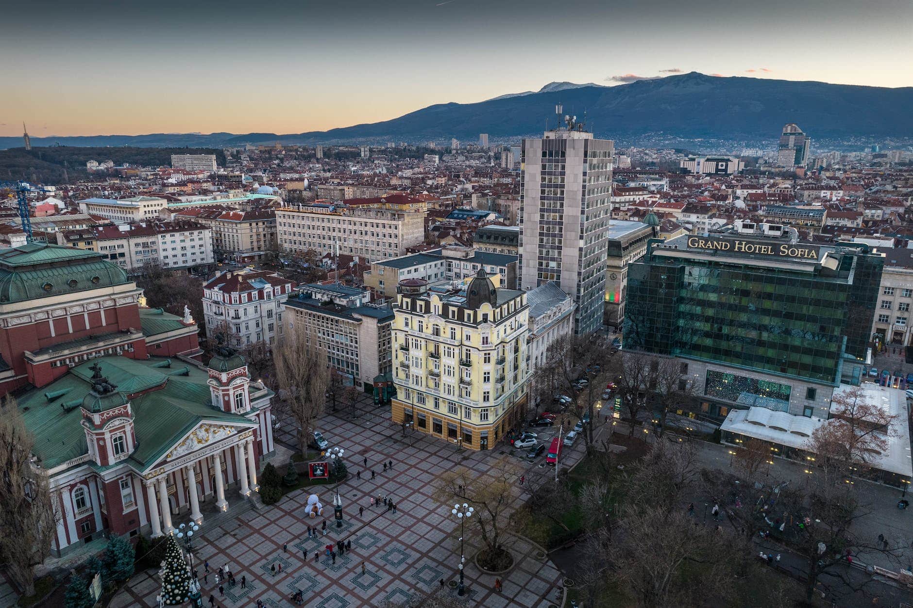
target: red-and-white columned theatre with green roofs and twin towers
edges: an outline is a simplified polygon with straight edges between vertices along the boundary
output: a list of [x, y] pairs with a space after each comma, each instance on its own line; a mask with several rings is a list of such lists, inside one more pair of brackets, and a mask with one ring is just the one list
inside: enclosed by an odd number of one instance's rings
[[[170, 534], [179, 514], [257, 491], [274, 451], [273, 393], [197, 326], [140, 306], [99, 253], [30, 244], [0, 253], [0, 394], [16, 397], [45, 471], [66, 554], [103, 534]], [[184, 517], [184, 516], [181, 516]]]

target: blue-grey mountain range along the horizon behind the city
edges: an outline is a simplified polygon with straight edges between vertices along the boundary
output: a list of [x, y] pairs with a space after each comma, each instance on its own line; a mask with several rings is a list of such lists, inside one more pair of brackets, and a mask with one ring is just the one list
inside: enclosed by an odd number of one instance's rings
[[[769, 142], [795, 122], [813, 140], [913, 137], [913, 87], [888, 89], [814, 81], [714, 77], [690, 72], [604, 87], [553, 82], [538, 91], [477, 103], [440, 103], [390, 121], [330, 131], [154, 133], [33, 137], [33, 146], [233, 147], [245, 143], [315, 144], [516, 139], [553, 128], [555, 104], [584, 119], [595, 136], [616, 142]], [[0, 148], [22, 139], [0, 137]]]

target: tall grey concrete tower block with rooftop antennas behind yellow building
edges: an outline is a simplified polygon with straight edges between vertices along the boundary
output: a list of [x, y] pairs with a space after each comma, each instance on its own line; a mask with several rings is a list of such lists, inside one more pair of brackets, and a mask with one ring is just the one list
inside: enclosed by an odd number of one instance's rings
[[577, 303], [581, 334], [603, 324], [614, 143], [566, 122], [521, 146], [520, 285], [555, 281]]

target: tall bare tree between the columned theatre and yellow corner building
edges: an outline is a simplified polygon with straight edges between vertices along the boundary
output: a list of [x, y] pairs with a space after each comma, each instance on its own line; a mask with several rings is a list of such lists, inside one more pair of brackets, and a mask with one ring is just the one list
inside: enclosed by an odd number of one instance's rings
[[298, 425], [301, 456], [307, 456], [314, 421], [326, 405], [326, 353], [320, 350], [316, 336], [309, 335], [297, 323], [286, 332], [276, 348], [276, 379], [284, 409]]

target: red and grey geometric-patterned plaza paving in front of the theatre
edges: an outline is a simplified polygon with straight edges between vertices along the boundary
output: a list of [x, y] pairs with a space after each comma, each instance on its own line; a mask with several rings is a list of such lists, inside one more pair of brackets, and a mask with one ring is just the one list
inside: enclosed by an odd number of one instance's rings
[[[288, 606], [290, 594], [297, 589], [305, 592], [305, 605], [309, 607], [373, 606], [384, 600], [404, 601], [415, 594], [432, 592], [440, 586], [441, 579], [456, 580], [459, 530], [449, 506], [433, 498], [433, 481], [456, 464], [484, 474], [503, 457], [504, 444], [487, 452], [457, 452], [441, 439], [419, 433], [403, 436], [400, 427], [390, 421], [388, 410], [375, 410], [375, 414], [365, 414], [355, 421], [327, 414], [320, 422], [320, 431], [331, 445], [343, 447], [350, 455], [346, 464], [351, 475], [340, 487], [343, 529], [337, 530], [332, 520], [333, 493], [327, 487], [319, 491], [324, 505], [324, 516], [319, 519], [304, 518], [310, 492], [303, 489], [289, 493], [271, 507], [250, 509], [215, 529], [207, 529], [204, 522], [205, 542], [196, 547], [196, 560], [201, 564], [208, 560], [211, 571], [227, 563], [237, 581], [234, 588], [226, 586], [225, 594], [220, 595], [211, 572], [208, 583], [203, 585], [206, 606], [210, 593], [215, 595], [216, 606], [253, 606], [258, 599], [268, 606]], [[282, 425], [277, 440], [294, 447], [291, 428]], [[546, 430], [545, 434], [549, 433]], [[582, 451], [581, 444], [568, 450], [562, 465], [570, 466], [582, 456]], [[367, 475], [364, 457], [368, 458]], [[393, 470], [383, 472], [382, 463], [388, 460], [394, 461]], [[525, 458], [511, 457], [510, 463], [516, 467], [518, 479], [520, 475], [532, 479], [552, 471], [542, 465], [541, 457], [532, 464]], [[376, 473], [374, 480], [371, 468]], [[356, 479], [356, 471], [362, 471], [361, 480]], [[518, 484], [517, 504], [521, 492]], [[370, 498], [378, 495], [393, 498], [397, 513], [388, 512], [383, 504], [372, 508]], [[358, 515], [359, 506], [364, 508], [362, 517]], [[313, 522], [311, 525], [319, 528], [321, 519], [327, 519], [326, 536], [309, 539], [307, 526]], [[561, 572], [550, 561], [535, 559], [538, 548], [526, 540], [512, 540], [511, 550], [517, 562], [501, 576], [503, 591], [496, 593], [495, 577], [478, 571], [472, 561], [480, 548], [470, 545], [474, 536], [467, 532], [467, 605], [530, 608], [554, 601]], [[338, 555], [335, 563], [323, 553], [319, 561], [314, 561], [315, 551], [326, 544], [335, 545], [337, 540], [351, 540], [352, 550]], [[283, 551], [283, 543], [288, 543], [288, 552]], [[302, 551], [307, 552], [307, 559]], [[273, 564], [277, 569], [281, 564], [281, 572], [272, 574]], [[202, 582], [202, 566], [199, 571]], [[240, 588], [242, 574], [247, 575], [247, 589]], [[139, 573], [110, 605], [152, 607], [158, 590], [157, 573]]]

